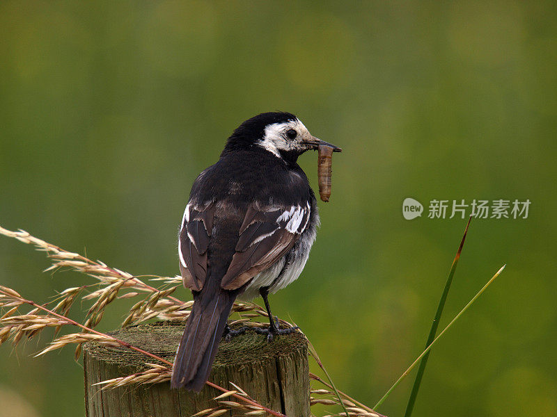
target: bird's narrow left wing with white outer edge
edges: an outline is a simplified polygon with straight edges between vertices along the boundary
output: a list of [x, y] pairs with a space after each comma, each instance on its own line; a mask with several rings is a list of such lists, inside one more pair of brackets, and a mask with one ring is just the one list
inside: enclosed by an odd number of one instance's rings
[[180, 272], [184, 286], [201, 291], [207, 277], [207, 247], [213, 229], [214, 202], [187, 204], [178, 238]]

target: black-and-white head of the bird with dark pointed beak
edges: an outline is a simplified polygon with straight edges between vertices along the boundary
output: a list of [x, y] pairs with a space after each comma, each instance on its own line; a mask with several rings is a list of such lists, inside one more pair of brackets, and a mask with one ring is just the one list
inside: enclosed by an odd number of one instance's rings
[[228, 138], [226, 152], [259, 147], [286, 162], [295, 163], [298, 156], [319, 145], [330, 145], [336, 152], [340, 148], [324, 142], [309, 133], [292, 113], [261, 113], [246, 120]]

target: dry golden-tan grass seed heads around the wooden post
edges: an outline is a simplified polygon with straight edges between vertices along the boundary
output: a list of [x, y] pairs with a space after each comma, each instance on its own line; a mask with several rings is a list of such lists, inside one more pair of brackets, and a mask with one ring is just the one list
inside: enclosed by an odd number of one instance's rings
[[[77, 345], [76, 357], [79, 357], [79, 354], [81, 354], [81, 344], [87, 341], [96, 341], [97, 343], [108, 346], [124, 345], [136, 349], [139, 352], [143, 352], [166, 364], [162, 366], [156, 363], [146, 363], [146, 366], [149, 368], [143, 372], [98, 383], [98, 385], [102, 386], [102, 389], [113, 389], [131, 384], [156, 384], [159, 382], [166, 382], [170, 379], [171, 363], [149, 352], [141, 351], [139, 348], [118, 341], [111, 336], [101, 334], [95, 331], [94, 327], [100, 323], [104, 316], [105, 309], [109, 304], [114, 302], [114, 300], [138, 297], [141, 294], [144, 295], [143, 299], [132, 306], [130, 313], [123, 322], [123, 326], [138, 324], [152, 318], [158, 318], [160, 320], [186, 319], [191, 313], [193, 302], [182, 302], [182, 300], [178, 300], [172, 296], [176, 288], [182, 285], [182, 277], [150, 276], [154, 277], [150, 281], [162, 282], [163, 288], [155, 288], [128, 272], [124, 272], [117, 268], [111, 268], [102, 261], [92, 261], [80, 254], [63, 250], [56, 245], [31, 236], [31, 234], [26, 231], [9, 231], [0, 227], [0, 234], [16, 238], [23, 243], [34, 245], [40, 251], [47, 252], [49, 258], [52, 259], [52, 265], [47, 268], [47, 270], [56, 271], [61, 268], [68, 268], [83, 273], [88, 277], [92, 277], [96, 281], [93, 285], [67, 288], [59, 293], [53, 300], [53, 302], [56, 302], [56, 305], [52, 307], [51, 310], [47, 309], [49, 313], [46, 313], [44, 311], [45, 309], [41, 310], [42, 307], [33, 302], [24, 300], [24, 298], [12, 288], [0, 286], [0, 309], [5, 310], [0, 311], [0, 313], [3, 313], [3, 315], [0, 316], [0, 344], [8, 341], [10, 338], [14, 344], [17, 344], [24, 336], [35, 336], [47, 327], [54, 327], [56, 332], [58, 332], [58, 330], [65, 325], [78, 325], [81, 327], [81, 332], [66, 334], [55, 338], [52, 343], [36, 356], [60, 349], [66, 345], [74, 344]], [[120, 293], [123, 290], [127, 292]], [[66, 317], [75, 301], [79, 298], [91, 302], [84, 325], [80, 325]], [[19, 308], [26, 304], [32, 304], [35, 308], [26, 314], [18, 313]], [[243, 325], [253, 328], [267, 327], [267, 312], [262, 306], [253, 303], [237, 302], [234, 304], [231, 311], [231, 314], [235, 313], [237, 313], [240, 318], [230, 320], [231, 325]], [[262, 320], [263, 322], [259, 322], [258, 320]], [[279, 322], [281, 323], [281, 327], [295, 327], [294, 324], [286, 320], [279, 320]], [[336, 398], [334, 391], [330, 390], [331, 386], [313, 374], [311, 377], [314, 383], [322, 384], [325, 387], [312, 389], [311, 393], [313, 395], [320, 395], [320, 398], [311, 398], [311, 405], [320, 404], [320, 406], [324, 405], [326, 407], [339, 407], [340, 402]], [[276, 413], [276, 411], [265, 409], [257, 402], [254, 402], [244, 390], [233, 382], [230, 382], [230, 385], [234, 388], [231, 391], [212, 385], [223, 391], [223, 394], [214, 398], [215, 402], [219, 405], [200, 411], [192, 417], [218, 417], [230, 411], [230, 409], [243, 410], [246, 416], [260, 416], [264, 414], [282, 416]], [[355, 400], [344, 393], [340, 393], [340, 396], [342, 397], [342, 404], [347, 407], [346, 411], [349, 416], [381, 416], [380, 414], [375, 414], [375, 411], [372, 411], [365, 405], [355, 402]], [[233, 401], [232, 398], [242, 400], [242, 402]], [[346, 416], [344, 413], [330, 414], [330, 416], [341, 415]]]

